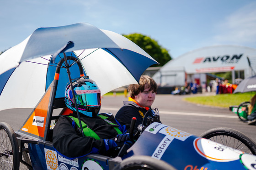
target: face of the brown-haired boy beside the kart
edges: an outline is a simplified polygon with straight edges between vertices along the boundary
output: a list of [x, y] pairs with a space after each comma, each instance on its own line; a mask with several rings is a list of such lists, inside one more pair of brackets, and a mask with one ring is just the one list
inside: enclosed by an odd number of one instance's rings
[[143, 92], [134, 96], [134, 100], [142, 107], [150, 107], [155, 100], [155, 92], [149, 89], [150, 87], [145, 88]]

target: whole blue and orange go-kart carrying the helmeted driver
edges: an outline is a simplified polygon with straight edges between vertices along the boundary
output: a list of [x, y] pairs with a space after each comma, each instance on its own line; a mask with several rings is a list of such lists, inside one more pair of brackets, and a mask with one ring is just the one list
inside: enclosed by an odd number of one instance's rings
[[[72, 57], [68, 59], [75, 60]], [[60, 60], [59, 65], [63, 62]], [[83, 75], [81, 70], [80, 75]], [[56, 74], [59, 74], [59, 67], [56, 69]], [[244, 147], [235, 145], [229, 147], [227, 146], [229, 143], [223, 145], [208, 140], [219, 135], [218, 130], [217, 133], [210, 131], [209, 134], [212, 136], [204, 134], [203, 137], [207, 138], [205, 139], [163, 125], [157, 122], [157, 117], [149, 118], [147, 127], [140, 126], [135, 135], [130, 133], [131, 138], [135, 138], [136, 142], [131, 147], [124, 145], [116, 157], [90, 154], [69, 160], [59, 155], [52, 144], [55, 120], [69, 113], [64, 98], [55, 97], [57, 85], [58, 76], [18, 131], [14, 132], [10, 125], [0, 123], [1, 169], [18, 170], [20, 162], [31, 170], [256, 169], [256, 155], [253, 155], [256, 154], [256, 146], [252, 141], [241, 138], [238, 142], [242, 141], [240, 145], [246, 144], [243, 145]], [[53, 115], [53, 110], [60, 110], [59, 114]], [[226, 131], [226, 136], [231, 133]], [[243, 136], [243, 134], [234, 134], [235, 137], [232, 138], [236, 139], [238, 135]]]

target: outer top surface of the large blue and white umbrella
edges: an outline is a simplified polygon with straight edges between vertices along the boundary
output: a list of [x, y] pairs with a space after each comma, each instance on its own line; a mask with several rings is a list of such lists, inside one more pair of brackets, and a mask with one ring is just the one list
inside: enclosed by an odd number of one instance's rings
[[[144, 55], [150, 59], [144, 50], [122, 35], [108, 30], [101, 30], [88, 23], [38, 28], [20, 44], [5, 51], [0, 57], [0, 74], [17, 67], [22, 61], [43, 55], [73, 50], [107, 48], [112, 52], [128, 50]], [[125, 53], [129, 53], [126, 51]], [[130, 54], [129, 54], [130, 55]]]

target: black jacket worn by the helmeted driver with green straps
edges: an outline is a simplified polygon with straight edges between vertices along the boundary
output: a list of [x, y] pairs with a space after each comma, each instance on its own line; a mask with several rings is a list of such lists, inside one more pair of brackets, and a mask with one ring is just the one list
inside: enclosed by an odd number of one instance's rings
[[[103, 115], [108, 117], [107, 120], [119, 124], [112, 114], [104, 113]], [[70, 116], [77, 117], [76, 114], [70, 114]], [[83, 137], [79, 127], [70, 117], [61, 116], [53, 129], [53, 147], [55, 150], [66, 158], [77, 158], [90, 153], [111, 155], [113, 150], [106, 151], [103, 139], [111, 139], [118, 135], [114, 127], [99, 116], [91, 118], [80, 114], [80, 119], [101, 139], [96, 140], [90, 136]], [[126, 126], [121, 121], [120, 123], [118, 128], [122, 133], [125, 133]]]

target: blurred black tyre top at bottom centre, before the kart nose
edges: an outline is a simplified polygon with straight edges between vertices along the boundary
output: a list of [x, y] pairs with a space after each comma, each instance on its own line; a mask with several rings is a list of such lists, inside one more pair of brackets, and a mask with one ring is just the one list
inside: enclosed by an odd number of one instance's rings
[[176, 170], [163, 160], [150, 156], [132, 156], [123, 160], [115, 170]]

